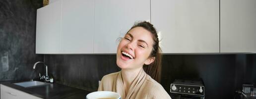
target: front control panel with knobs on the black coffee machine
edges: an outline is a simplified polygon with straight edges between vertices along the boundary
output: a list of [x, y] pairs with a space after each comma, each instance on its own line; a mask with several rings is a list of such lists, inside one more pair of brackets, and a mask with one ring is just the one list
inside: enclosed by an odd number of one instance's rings
[[171, 84], [171, 93], [204, 96], [204, 86]]

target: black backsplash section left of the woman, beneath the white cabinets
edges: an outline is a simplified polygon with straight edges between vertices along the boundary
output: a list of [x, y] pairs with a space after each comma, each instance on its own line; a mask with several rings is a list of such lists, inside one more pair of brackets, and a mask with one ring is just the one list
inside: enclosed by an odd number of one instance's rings
[[48, 71], [64, 85], [96, 91], [106, 74], [119, 71], [116, 55], [45, 55]]

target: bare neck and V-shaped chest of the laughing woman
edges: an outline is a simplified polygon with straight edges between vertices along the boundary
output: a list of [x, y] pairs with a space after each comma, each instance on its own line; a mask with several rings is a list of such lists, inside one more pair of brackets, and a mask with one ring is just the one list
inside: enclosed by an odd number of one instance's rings
[[129, 87], [131, 83], [134, 81], [134, 79], [137, 77], [139, 71], [143, 68], [137, 68], [137, 69], [122, 69], [121, 74], [122, 74], [122, 79], [123, 79], [123, 84], [125, 87], [125, 92], [126, 95], [128, 93]]

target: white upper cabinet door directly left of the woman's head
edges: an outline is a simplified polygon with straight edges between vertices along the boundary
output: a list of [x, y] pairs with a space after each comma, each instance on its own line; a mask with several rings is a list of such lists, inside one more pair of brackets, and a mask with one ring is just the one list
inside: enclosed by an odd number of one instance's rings
[[94, 53], [116, 53], [136, 21], [150, 20], [150, 0], [95, 0]]

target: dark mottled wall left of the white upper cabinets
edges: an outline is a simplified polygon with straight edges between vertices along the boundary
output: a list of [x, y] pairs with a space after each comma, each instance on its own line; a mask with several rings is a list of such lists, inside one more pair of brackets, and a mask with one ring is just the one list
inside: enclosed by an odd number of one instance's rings
[[36, 9], [42, 4], [42, 0], [0, 0], [0, 81], [36, 76], [33, 64], [43, 60], [43, 55], [35, 54]]

